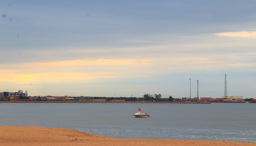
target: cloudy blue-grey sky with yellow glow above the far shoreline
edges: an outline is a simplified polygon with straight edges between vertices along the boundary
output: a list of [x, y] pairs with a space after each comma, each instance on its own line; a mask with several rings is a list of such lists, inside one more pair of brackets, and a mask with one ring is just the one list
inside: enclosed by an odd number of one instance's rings
[[1, 0], [0, 91], [256, 98], [255, 42], [255, 0]]

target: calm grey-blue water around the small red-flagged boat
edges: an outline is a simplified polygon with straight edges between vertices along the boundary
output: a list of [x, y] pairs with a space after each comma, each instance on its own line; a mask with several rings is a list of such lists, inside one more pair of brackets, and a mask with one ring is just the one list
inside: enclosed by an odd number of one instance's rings
[[[151, 118], [134, 118], [141, 108]], [[256, 143], [255, 103], [0, 103], [0, 126], [117, 137]]]

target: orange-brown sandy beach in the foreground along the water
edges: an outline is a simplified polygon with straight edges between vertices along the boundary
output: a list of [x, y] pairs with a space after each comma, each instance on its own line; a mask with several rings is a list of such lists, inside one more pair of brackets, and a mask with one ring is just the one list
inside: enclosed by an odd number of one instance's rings
[[77, 130], [62, 128], [0, 126], [1, 146], [40, 146], [40, 145], [124, 145], [124, 146], [256, 146], [255, 143], [221, 142], [204, 140], [146, 140], [146, 139], [118, 139], [82, 133]]

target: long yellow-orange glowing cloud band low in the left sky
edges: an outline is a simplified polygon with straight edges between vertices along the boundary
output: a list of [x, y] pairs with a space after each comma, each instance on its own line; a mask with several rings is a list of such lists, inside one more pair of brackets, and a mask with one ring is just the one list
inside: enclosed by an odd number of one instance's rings
[[[1, 82], [22, 83], [76, 83], [100, 82], [122, 77], [142, 77], [140, 67], [147, 60], [67, 60], [61, 62], [34, 62], [1, 64]], [[136, 74], [132, 72], [137, 72]]]

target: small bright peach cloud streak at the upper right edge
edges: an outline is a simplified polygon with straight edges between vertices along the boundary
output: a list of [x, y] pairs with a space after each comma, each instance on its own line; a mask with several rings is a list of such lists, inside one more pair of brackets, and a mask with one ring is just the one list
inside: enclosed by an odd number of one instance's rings
[[256, 31], [238, 31], [238, 32], [215, 33], [215, 35], [227, 36], [227, 37], [250, 38], [250, 37], [256, 37]]

